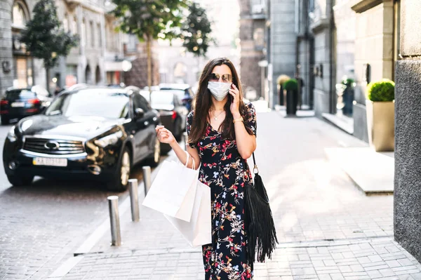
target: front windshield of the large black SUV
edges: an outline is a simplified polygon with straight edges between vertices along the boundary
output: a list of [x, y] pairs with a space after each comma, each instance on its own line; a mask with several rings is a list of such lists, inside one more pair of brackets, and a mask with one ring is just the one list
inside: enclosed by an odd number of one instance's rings
[[129, 98], [126, 93], [86, 92], [60, 95], [46, 109], [46, 115], [126, 117]]

